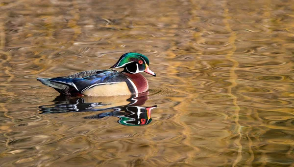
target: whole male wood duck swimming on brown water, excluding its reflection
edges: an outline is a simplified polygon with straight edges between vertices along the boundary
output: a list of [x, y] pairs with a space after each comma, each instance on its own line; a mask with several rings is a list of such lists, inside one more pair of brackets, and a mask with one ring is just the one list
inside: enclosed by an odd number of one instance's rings
[[[156, 76], [149, 60], [140, 53], [126, 53], [107, 70], [90, 70], [57, 78], [37, 78], [60, 94], [68, 96], [134, 95], [148, 90], [148, 82], [140, 72]], [[123, 68], [122, 72], [114, 70]]]

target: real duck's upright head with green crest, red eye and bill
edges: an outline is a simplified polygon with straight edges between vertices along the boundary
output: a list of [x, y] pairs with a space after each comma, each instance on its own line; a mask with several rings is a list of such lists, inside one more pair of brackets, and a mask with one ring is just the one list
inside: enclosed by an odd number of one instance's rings
[[131, 52], [123, 54], [119, 61], [110, 68], [124, 68], [124, 72], [131, 74], [146, 72], [156, 77], [156, 74], [149, 68], [148, 58], [140, 53]]

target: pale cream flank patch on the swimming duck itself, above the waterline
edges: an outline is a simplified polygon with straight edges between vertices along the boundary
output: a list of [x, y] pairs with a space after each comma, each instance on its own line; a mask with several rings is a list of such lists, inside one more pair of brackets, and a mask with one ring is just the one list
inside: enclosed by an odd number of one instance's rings
[[121, 96], [131, 94], [132, 93], [125, 82], [97, 85], [83, 92], [83, 95], [86, 96]]

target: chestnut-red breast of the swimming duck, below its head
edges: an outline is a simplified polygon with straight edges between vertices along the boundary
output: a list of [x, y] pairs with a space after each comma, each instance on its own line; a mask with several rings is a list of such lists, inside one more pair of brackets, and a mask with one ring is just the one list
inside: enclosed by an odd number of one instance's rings
[[149, 88], [147, 79], [140, 73], [138, 74], [129, 74], [123, 73], [126, 75], [137, 87], [138, 93], [146, 92]]

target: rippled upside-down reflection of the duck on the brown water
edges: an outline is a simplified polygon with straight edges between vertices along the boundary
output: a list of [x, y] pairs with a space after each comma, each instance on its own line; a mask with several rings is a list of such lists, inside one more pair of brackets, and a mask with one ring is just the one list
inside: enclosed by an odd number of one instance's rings
[[[51, 105], [39, 106], [41, 113], [66, 113], [66, 112], [102, 112], [84, 119], [101, 119], [104, 117], [118, 117], [122, 125], [148, 125], [151, 119], [151, 110], [157, 106], [142, 107], [148, 100], [148, 94], [138, 97], [57, 97]], [[110, 110], [110, 111], [109, 111]]]

